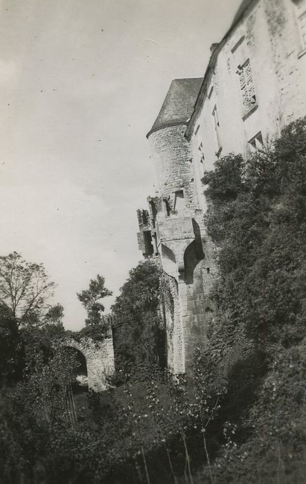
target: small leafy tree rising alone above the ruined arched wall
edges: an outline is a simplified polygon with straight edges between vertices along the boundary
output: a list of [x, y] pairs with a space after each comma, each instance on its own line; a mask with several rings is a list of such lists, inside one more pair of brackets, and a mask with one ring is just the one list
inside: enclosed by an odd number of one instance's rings
[[89, 289], [77, 292], [77, 298], [82, 302], [87, 311], [86, 326], [95, 326], [102, 324], [102, 313], [104, 306], [101, 299], [106, 296], [111, 296], [113, 292], [105, 286], [105, 279], [103, 276], [97, 274], [96, 279], [90, 279]]

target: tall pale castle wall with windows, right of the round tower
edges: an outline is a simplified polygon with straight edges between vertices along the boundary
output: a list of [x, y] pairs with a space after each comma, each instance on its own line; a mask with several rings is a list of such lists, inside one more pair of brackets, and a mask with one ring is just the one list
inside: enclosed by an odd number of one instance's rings
[[[296, 1], [305, 4], [306, 12], [305, 0]], [[306, 114], [306, 51], [297, 24], [296, 1], [249, 2], [245, 15], [213, 54], [216, 59], [207, 69], [187, 128], [200, 192], [204, 170], [212, 169], [218, 157], [228, 153], [249, 156], [250, 142], [258, 133], [263, 143], [269, 143], [283, 126]], [[253, 84], [246, 89], [249, 93], [254, 89], [256, 97], [249, 109], [242, 82], [246, 68], [251, 72], [247, 83]], [[201, 193], [199, 196], [204, 203]]]

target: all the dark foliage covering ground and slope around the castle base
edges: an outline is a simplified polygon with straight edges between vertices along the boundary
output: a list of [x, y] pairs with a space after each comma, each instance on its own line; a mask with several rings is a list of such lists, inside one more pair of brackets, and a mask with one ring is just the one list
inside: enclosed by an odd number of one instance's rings
[[[305, 125], [291, 124], [250, 160], [218, 160], [204, 176], [217, 311], [190, 378], [155, 365], [164, 346], [150, 261], [131, 271], [113, 306], [119, 387], [76, 395], [76, 362], [57, 346], [61, 327], [24, 328], [23, 378], [1, 387], [0, 481], [305, 481]], [[21, 332], [0, 314], [8, 375]]]

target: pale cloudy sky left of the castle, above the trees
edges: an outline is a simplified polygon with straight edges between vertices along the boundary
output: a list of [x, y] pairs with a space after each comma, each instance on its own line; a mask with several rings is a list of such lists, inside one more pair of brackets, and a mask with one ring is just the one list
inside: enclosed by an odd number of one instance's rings
[[0, 254], [44, 263], [64, 325], [102, 274], [142, 260], [155, 194], [146, 133], [171, 81], [202, 77], [240, 0], [0, 0]]

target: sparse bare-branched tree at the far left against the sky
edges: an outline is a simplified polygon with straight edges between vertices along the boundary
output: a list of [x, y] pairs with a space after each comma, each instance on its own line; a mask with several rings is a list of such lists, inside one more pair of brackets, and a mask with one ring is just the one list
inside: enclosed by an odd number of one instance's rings
[[18, 252], [0, 257], [0, 304], [17, 326], [40, 324], [54, 287], [43, 264], [27, 262]]

